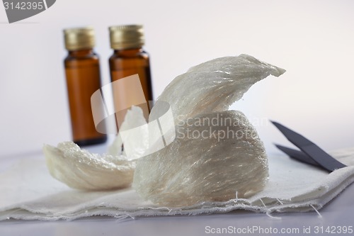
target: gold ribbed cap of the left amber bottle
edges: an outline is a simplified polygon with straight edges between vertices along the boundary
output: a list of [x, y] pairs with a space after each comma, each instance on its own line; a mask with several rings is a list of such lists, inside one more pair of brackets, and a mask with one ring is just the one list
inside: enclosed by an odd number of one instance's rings
[[90, 49], [95, 46], [95, 32], [91, 27], [64, 29], [67, 50]]

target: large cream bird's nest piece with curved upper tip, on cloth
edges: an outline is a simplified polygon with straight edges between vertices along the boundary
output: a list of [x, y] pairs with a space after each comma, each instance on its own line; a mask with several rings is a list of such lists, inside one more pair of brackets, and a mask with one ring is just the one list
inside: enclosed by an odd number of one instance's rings
[[[263, 142], [243, 113], [226, 110], [256, 82], [284, 72], [239, 55], [199, 64], [173, 79], [157, 101], [170, 104], [176, 137], [137, 160], [132, 184], [137, 193], [160, 206], [190, 206], [261, 191], [268, 181]], [[160, 109], [156, 103], [149, 120], [158, 118]]]

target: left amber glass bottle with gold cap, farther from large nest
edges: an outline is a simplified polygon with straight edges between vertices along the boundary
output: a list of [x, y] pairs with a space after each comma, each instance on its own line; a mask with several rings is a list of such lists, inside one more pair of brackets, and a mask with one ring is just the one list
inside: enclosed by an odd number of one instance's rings
[[91, 95], [101, 88], [98, 55], [93, 52], [93, 28], [66, 29], [64, 40], [69, 50], [64, 66], [73, 140], [80, 146], [105, 142], [107, 135], [96, 131], [91, 110]]

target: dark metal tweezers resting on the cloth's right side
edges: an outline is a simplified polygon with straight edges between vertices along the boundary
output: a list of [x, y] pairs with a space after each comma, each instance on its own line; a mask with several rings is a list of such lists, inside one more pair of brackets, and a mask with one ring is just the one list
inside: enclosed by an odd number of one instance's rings
[[333, 172], [336, 169], [340, 169], [346, 167], [345, 164], [338, 162], [338, 160], [334, 159], [324, 150], [313, 142], [308, 140], [306, 137], [296, 133], [295, 131], [290, 130], [290, 128], [286, 128], [284, 125], [277, 123], [275, 121], [271, 121], [273, 125], [275, 125], [278, 130], [294, 144], [299, 147], [299, 150], [294, 150], [289, 147], [284, 147], [282, 145], [275, 145], [282, 152], [285, 152], [289, 157], [296, 159], [299, 162], [304, 162], [306, 164], [312, 164], [317, 167], [321, 167], [322, 169], [326, 169], [329, 172]]

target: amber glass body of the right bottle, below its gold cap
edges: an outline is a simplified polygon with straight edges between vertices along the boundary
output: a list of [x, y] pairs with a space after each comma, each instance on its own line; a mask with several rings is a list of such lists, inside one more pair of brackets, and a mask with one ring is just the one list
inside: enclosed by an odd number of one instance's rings
[[[153, 101], [152, 94], [152, 79], [150, 74], [149, 55], [142, 48], [114, 50], [113, 55], [109, 59], [110, 78], [112, 82], [124, 77], [129, 77], [133, 74], [139, 74], [140, 83], [144, 91], [147, 104], [140, 106], [143, 109], [145, 118], [149, 116], [149, 101]], [[124, 90], [124, 91], [120, 91]], [[122, 98], [129, 91], [128, 98]], [[137, 91], [134, 88], [120, 87], [119, 90], [113, 89], [113, 99], [115, 103], [120, 99], [131, 99]], [[138, 96], [138, 95], [136, 95]], [[118, 125], [124, 119], [125, 112], [116, 113]]]

